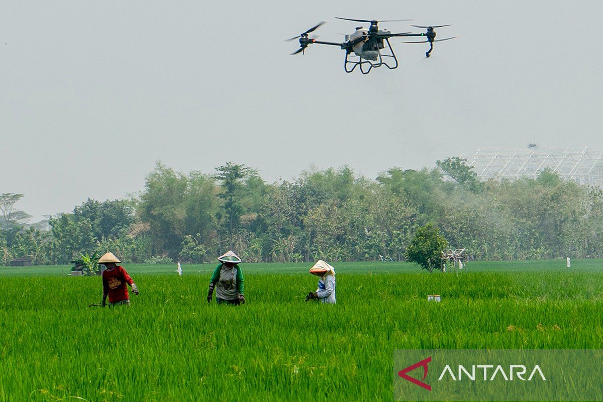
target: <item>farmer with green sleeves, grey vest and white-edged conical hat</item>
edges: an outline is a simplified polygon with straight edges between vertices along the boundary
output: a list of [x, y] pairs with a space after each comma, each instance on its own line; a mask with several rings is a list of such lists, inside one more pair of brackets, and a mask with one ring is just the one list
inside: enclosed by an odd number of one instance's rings
[[213, 270], [212, 278], [209, 280], [207, 303], [212, 301], [214, 287], [218, 304], [239, 305], [245, 303], [243, 272], [238, 265], [241, 259], [232, 250], [229, 250], [219, 256], [218, 261], [220, 263]]

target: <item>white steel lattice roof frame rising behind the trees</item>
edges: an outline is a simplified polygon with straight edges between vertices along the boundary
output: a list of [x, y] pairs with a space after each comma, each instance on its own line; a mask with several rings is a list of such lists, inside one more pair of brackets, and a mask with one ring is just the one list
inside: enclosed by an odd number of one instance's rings
[[568, 148], [480, 148], [475, 154], [461, 154], [481, 180], [535, 178], [545, 168], [579, 184], [603, 186], [603, 152], [587, 146]]

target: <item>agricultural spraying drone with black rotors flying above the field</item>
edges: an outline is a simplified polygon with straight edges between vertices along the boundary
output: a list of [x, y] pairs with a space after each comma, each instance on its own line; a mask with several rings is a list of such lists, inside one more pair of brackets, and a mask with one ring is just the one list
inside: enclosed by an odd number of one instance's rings
[[[292, 37], [291, 39], [286, 39], [287, 42], [291, 42], [291, 40], [295, 40], [297, 38], [300, 39], [300, 48], [297, 51], [291, 54], [304, 54], [308, 45], [312, 43], [318, 43], [320, 45], [334, 45], [340, 46], [341, 49], [346, 51], [346, 59], [344, 60], [344, 69], [346, 72], [352, 72], [356, 67], [359, 66], [362, 74], [368, 74], [371, 69], [379, 68], [381, 66], [385, 66], [388, 69], [395, 69], [398, 67], [398, 59], [396, 58], [396, 54], [394, 53], [394, 49], [391, 48], [390, 38], [391, 37], [406, 37], [406, 36], [426, 36], [427, 40], [420, 40], [418, 42], [404, 42], [404, 43], [429, 43], [429, 50], [425, 53], [426, 57], [431, 56], [431, 51], [434, 49], [434, 42], [441, 42], [443, 40], [454, 39], [456, 36], [449, 37], [446, 39], [435, 39], [435, 30], [434, 28], [442, 28], [449, 27], [449, 25], [434, 25], [429, 27], [422, 27], [421, 25], [411, 25], [411, 27], [415, 28], [423, 28], [426, 29], [426, 33], [413, 34], [410, 32], [403, 32], [398, 34], [393, 34], [388, 30], [379, 30], [377, 24], [379, 21], [377, 20], [368, 20], [368, 19], [352, 19], [352, 18], [341, 18], [335, 17], [337, 19], [344, 19], [348, 21], [356, 21], [356, 22], [370, 22], [370, 27], [368, 29], [362, 27], [356, 27], [356, 32], [351, 35], [346, 35], [346, 42], [323, 42], [322, 40], [316, 40], [318, 36], [308, 37], [308, 34], [315, 31], [318, 27], [325, 24], [324, 21], [314, 25], [314, 27], [310, 28], [308, 31], [305, 31], [298, 36]], [[408, 19], [392, 19], [392, 20], [382, 20], [381, 22], [395, 22], [395, 21], [408, 21]], [[385, 49], [385, 44], [387, 43], [389, 54], [382, 54], [381, 49]], [[358, 56], [358, 60], [351, 60], [352, 57], [350, 54], [352, 52]], [[388, 64], [387, 58], [390, 58], [391, 65]], [[393, 61], [392, 61], [393, 60]]]

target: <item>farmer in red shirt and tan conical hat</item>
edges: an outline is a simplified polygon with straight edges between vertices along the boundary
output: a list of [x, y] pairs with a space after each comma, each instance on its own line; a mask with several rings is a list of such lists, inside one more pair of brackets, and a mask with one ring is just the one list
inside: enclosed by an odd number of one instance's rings
[[119, 262], [113, 253], [106, 253], [98, 260], [99, 264], [104, 264], [106, 267], [103, 271], [103, 301], [101, 303], [103, 307], [107, 304], [107, 296], [109, 296], [109, 307], [130, 304], [126, 283], [130, 284], [132, 292], [138, 295], [136, 283], [130, 278], [128, 272], [125, 272], [124, 267], [117, 265]]

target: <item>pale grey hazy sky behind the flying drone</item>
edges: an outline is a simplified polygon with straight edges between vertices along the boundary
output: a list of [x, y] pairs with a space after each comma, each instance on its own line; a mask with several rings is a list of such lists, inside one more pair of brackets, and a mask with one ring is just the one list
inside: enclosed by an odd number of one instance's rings
[[[305, 6], [303, 4], [306, 4]], [[2, 1], [0, 193], [19, 209], [68, 212], [227, 161], [267, 181], [311, 165], [374, 178], [480, 146], [603, 149], [600, 1]], [[359, 19], [452, 27], [394, 39], [400, 68], [343, 71]]]

